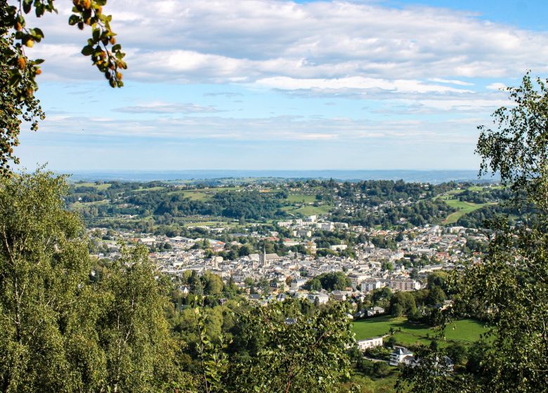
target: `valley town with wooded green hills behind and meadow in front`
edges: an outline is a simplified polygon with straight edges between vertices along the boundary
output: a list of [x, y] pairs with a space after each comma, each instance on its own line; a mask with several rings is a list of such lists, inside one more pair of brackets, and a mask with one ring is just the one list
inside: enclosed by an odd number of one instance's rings
[[[107, 193], [115, 187], [119, 187], [117, 193]], [[397, 192], [393, 190], [398, 187]], [[429, 326], [435, 326], [436, 312], [452, 303], [450, 294], [443, 291], [445, 279], [455, 269], [480, 263], [488, 244], [489, 232], [474, 222], [483, 220], [506, 197], [496, 183], [353, 184], [333, 180], [213, 187], [96, 182], [75, 183], [72, 190], [72, 208], [91, 222], [87, 231], [96, 260], [115, 260], [122, 244], [141, 244], [149, 249], [158, 272], [175, 280], [188, 278], [189, 272], [214, 274], [226, 286], [237, 288], [250, 304], [265, 306], [286, 298], [308, 299], [316, 307], [348, 302], [363, 359], [390, 366], [412, 366], [416, 361], [412, 347], [433, 340]], [[90, 191], [96, 195], [93, 200], [86, 195]], [[228, 195], [233, 210], [223, 206], [217, 215], [197, 214], [204, 209], [200, 203], [212, 209], [209, 201], [224, 203], [218, 198]], [[275, 213], [266, 208], [261, 214], [268, 217], [250, 218], [253, 213], [249, 211], [242, 217], [234, 206], [245, 195], [257, 198], [246, 200], [255, 208], [272, 201], [266, 196], [274, 197], [278, 204], [270, 210]], [[166, 197], [171, 198], [169, 203]], [[193, 205], [192, 214], [184, 213], [188, 205]], [[141, 215], [139, 208], [143, 208]], [[169, 220], [158, 218], [161, 211]], [[429, 212], [427, 217], [433, 222], [426, 222], [423, 211]], [[474, 212], [482, 214], [476, 221], [469, 214]], [[147, 221], [139, 222], [147, 215]], [[351, 220], [356, 216], [374, 225], [356, 225]], [[462, 222], [472, 225], [459, 225]], [[195, 291], [187, 279], [178, 282], [179, 295]], [[398, 293], [412, 294], [412, 305], [409, 297]], [[225, 301], [219, 299], [220, 304]], [[444, 345], [459, 349], [463, 342], [471, 345], [479, 337], [477, 321], [463, 323], [473, 331], [470, 338]], [[410, 328], [417, 326], [423, 330], [411, 333]], [[453, 360], [446, 359], [445, 365], [452, 370]]]

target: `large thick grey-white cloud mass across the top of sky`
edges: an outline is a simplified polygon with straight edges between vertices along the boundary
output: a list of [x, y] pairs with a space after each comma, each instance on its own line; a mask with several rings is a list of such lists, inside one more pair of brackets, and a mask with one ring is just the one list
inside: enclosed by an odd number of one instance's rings
[[[460, 79], [516, 76], [526, 68], [548, 71], [546, 32], [442, 8], [345, 1], [117, 0], [105, 11], [112, 13], [112, 27], [128, 51], [127, 79], [430, 79], [469, 86]], [[44, 70], [58, 78], [88, 78], [89, 72], [66, 71], [81, 62], [79, 50], [89, 32], [65, 26], [59, 18], [39, 23], [44, 42], [58, 46], [53, 51], [44, 43], [36, 46], [44, 48]]]

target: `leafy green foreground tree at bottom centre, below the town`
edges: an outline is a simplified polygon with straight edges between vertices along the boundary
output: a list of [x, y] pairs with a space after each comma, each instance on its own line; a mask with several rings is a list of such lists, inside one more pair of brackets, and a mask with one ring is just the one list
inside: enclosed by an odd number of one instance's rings
[[[350, 360], [346, 347], [355, 345], [347, 305], [301, 314], [300, 303], [286, 300], [268, 307], [254, 307], [243, 317], [263, 345], [252, 357], [232, 364], [226, 387], [229, 392], [333, 392], [348, 375]], [[294, 323], [284, 319], [291, 310]]]

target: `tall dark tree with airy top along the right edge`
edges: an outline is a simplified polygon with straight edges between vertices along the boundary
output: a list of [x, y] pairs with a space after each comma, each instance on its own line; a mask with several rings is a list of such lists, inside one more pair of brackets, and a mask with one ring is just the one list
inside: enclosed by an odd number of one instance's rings
[[508, 88], [511, 105], [493, 114], [497, 127], [479, 127], [481, 173], [499, 172], [503, 185], [514, 191], [512, 204], [533, 210], [516, 227], [504, 217], [492, 220], [494, 236], [483, 262], [453, 274], [448, 282], [455, 292], [450, 317], [481, 314], [490, 328], [490, 345], [469, 354], [469, 363], [481, 362], [481, 375], [433, 373], [435, 359], [443, 354], [437, 349], [422, 354], [424, 367], [403, 373], [400, 387], [417, 392], [544, 392], [548, 386], [547, 84], [526, 74], [521, 86]]

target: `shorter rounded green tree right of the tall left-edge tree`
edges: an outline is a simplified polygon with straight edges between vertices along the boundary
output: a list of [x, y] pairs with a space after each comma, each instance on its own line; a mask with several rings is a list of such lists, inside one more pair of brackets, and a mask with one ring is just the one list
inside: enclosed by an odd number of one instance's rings
[[168, 300], [145, 246], [123, 249], [98, 290], [102, 312], [96, 331], [107, 371], [101, 389], [148, 392], [177, 380], [176, 346], [164, 314]]

